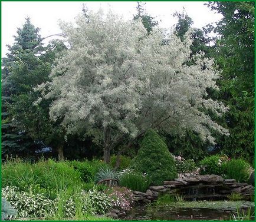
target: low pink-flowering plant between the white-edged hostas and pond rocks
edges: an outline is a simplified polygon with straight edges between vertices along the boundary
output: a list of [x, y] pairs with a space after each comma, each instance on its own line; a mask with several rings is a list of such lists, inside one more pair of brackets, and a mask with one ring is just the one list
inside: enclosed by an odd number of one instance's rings
[[128, 211], [132, 208], [134, 203], [132, 190], [125, 187], [112, 187], [108, 188], [105, 193], [110, 197], [113, 208], [121, 211]]

